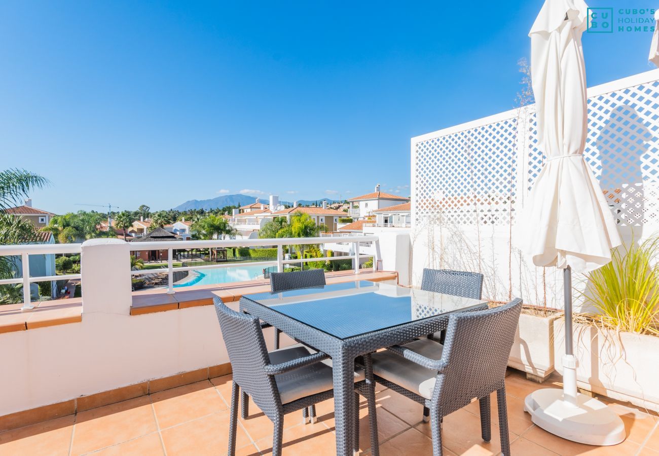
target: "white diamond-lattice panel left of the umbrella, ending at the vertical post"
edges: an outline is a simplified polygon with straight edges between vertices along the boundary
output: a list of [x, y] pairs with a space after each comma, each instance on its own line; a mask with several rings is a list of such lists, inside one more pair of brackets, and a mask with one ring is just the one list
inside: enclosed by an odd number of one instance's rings
[[506, 225], [515, 200], [517, 119], [416, 145], [416, 217], [459, 225]]

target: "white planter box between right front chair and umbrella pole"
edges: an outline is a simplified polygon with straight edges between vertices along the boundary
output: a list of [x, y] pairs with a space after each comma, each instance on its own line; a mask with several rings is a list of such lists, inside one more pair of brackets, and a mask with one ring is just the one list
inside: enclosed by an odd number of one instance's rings
[[523, 370], [534, 380], [544, 380], [554, 372], [555, 320], [555, 316], [521, 314], [508, 366]]

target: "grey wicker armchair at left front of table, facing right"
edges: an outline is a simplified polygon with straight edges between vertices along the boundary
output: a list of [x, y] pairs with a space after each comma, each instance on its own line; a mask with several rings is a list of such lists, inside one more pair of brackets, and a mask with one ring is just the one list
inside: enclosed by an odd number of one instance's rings
[[[235, 455], [238, 399], [243, 389], [273, 422], [273, 456], [281, 455], [285, 413], [333, 397], [332, 368], [329, 356], [305, 345], [268, 353], [258, 318], [235, 312], [215, 298], [215, 312], [233, 369], [229, 455]], [[364, 356], [364, 369], [355, 370], [355, 448], [359, 440], [358, 393], [368, 400], [371, 447], [378, 454], [378, 424], [375, 408], [375, 383], [370, 356]]]

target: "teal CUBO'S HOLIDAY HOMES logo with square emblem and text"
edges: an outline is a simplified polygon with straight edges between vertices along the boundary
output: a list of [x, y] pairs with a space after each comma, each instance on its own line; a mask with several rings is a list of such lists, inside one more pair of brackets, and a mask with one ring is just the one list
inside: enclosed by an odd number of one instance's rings
[[655, 24], [654, 8], [588, 8], [588, 33], [652, 33]]

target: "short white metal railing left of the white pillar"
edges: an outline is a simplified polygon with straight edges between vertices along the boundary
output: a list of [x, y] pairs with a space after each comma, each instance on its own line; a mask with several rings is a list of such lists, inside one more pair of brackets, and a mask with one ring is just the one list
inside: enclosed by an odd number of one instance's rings
[[22, 267], [22, 277], [15, 279], [2, 279], [0, 285], [23, 284], [23, 306], [20, 310], [30, 310], [34, 308], [32, 297], [30, 296], [30, 283], [46, 282], [53, 280], [73, 280], [80, 279], [80, 274], [65, 275], [40, 275], [30, 277], [30, 255], [53, 255], [65, 253], [80, 253], [82, 244], [16, 244], [0, 246], [0, 256], [20, 256]]

